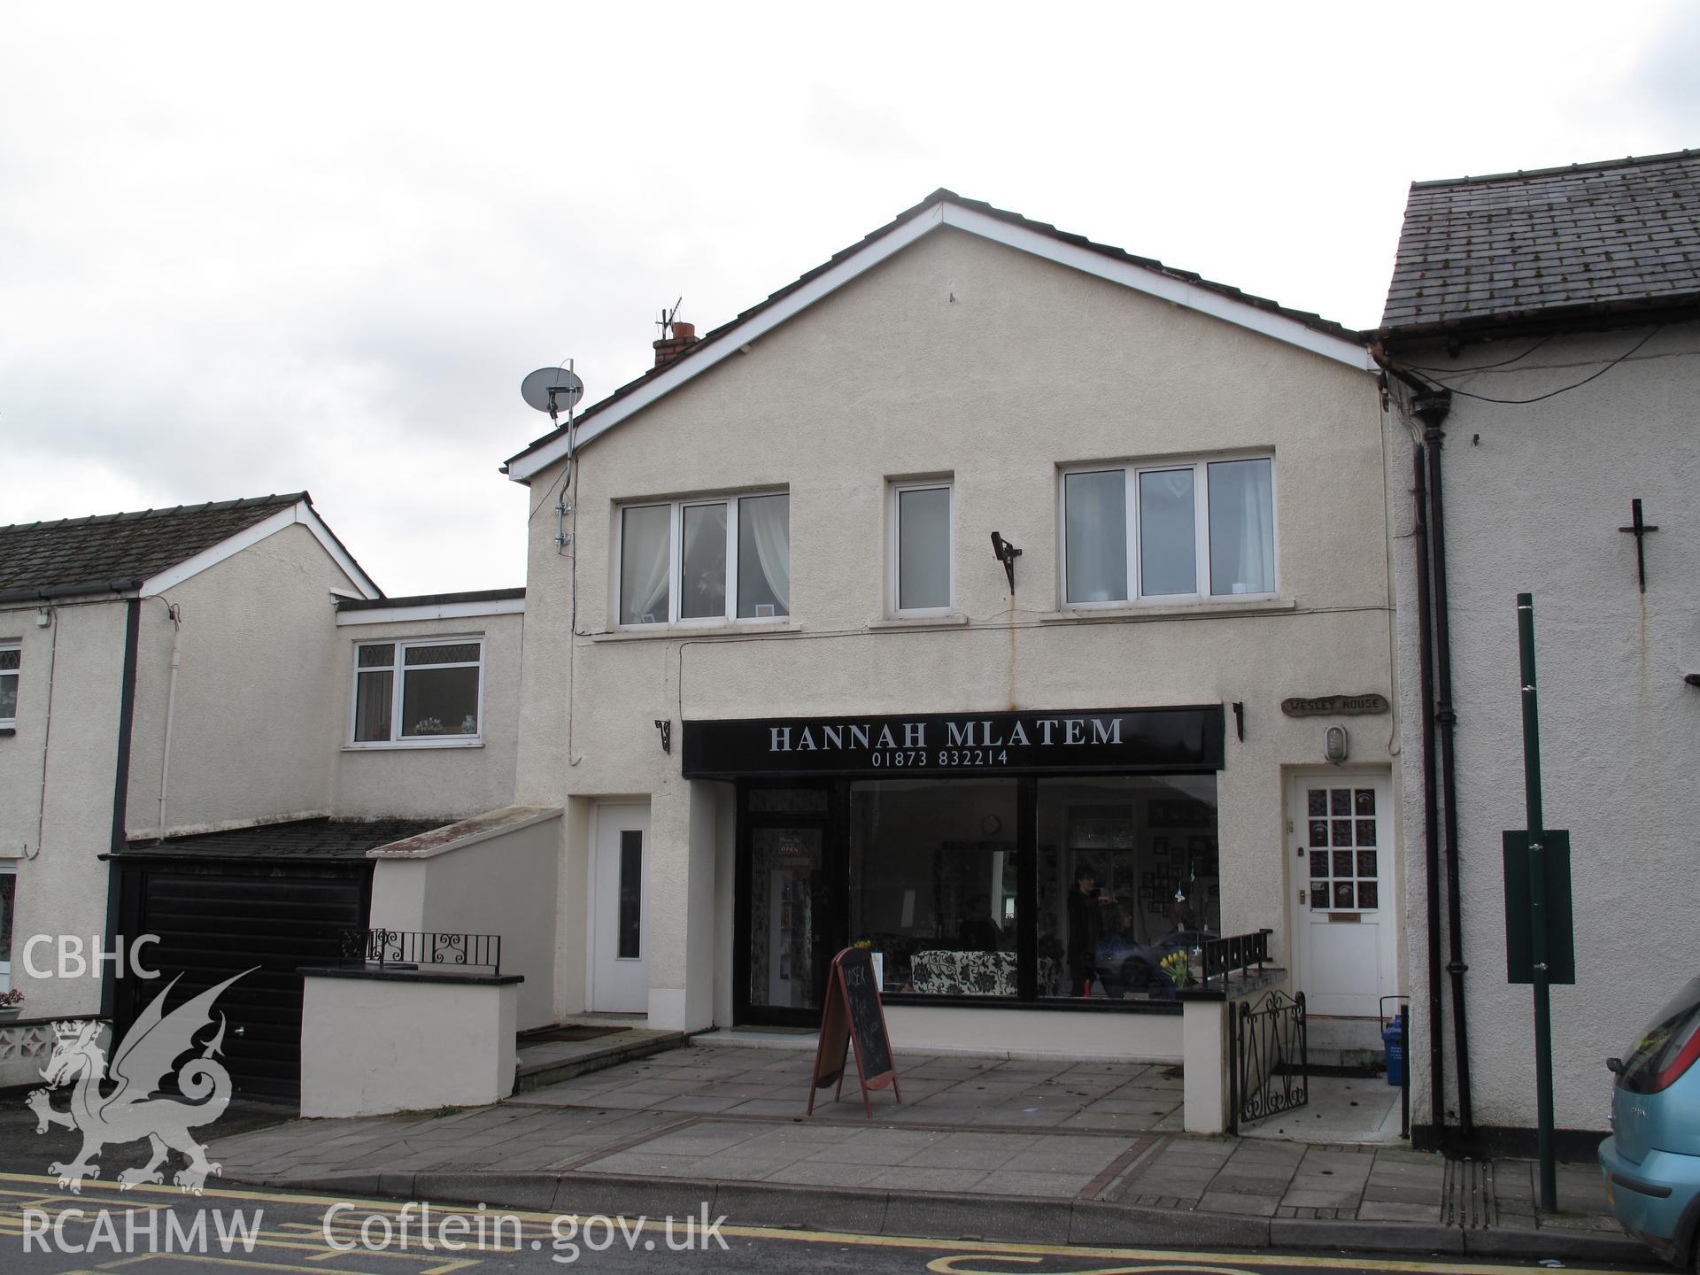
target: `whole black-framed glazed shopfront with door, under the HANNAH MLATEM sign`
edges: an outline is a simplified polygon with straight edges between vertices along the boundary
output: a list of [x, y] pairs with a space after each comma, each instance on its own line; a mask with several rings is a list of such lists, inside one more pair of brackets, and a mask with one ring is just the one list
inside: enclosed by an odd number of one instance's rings
[[750, 1022], [806, 1023], [833, 954], [899, 1001], [1168, 1003], [1221, 933], [1214, 774], [741, 789]]

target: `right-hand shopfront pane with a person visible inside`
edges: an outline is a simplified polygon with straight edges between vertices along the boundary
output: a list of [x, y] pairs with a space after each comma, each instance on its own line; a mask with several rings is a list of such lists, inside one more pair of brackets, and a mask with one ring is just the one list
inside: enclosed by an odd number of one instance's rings
[[1173, 998], [1221, 933], [1216, 777], [1042, 779], [1035, 842], [1039, 994]]

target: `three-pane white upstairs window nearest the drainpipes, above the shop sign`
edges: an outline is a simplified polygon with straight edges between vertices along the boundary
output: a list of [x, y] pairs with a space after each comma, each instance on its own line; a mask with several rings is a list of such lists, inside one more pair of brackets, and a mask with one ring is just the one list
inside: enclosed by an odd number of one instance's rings
[[1268, 454], [1062, 471], [1062, 605], [1273, 597]]

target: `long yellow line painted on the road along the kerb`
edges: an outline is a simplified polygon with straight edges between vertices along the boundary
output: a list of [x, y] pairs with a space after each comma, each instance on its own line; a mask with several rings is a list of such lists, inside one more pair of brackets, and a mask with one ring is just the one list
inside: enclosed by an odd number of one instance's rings
[[[15, 1183], [20, 1183], [20, 1185], [24, 1185], [24, 1183], [39, 1185], [39, 1183], [53, 1183], [53, 1182], [56, 1182], [56, 1178], [42, 1176], [39, 1173], [0, 1173], [0, 1183], [3, 1183], [3, 1182], [15, 1182]], [[116, 1192], [117, 1190], [116, 1187], [107, 1185], [107, 1183], [85, 1182], [83, 1183], [83, 1190], [87, 1192], [90, 1188], [107, 1190], [107, 1192]], [[182, 1195], [180, 1190], [168, 1188], [168, 1187], [134, 1187], [129, 1192], [124, 1192], [124, 1195], [126, 1197], [134, 1197], [134, 1195], [143, 1193], [143, 1192], [167, 1193], [167, 1195], [173, 1195], [173, 1197], [180, 1197]], [[0, 1195], [5, 1195], [5, 1193], [8, 1193], [8, 1192], [5, 1192], [3, 1188], [0, 1188]], [[53, 1200], [54, 1197], [48, 1197], [48, 1198]], [[66, 1198], [71, 1198], [71, 1197], [66, 1197]], [[87, 1198], [87, 1197], [83, 1197], [83, 1198]], [[184, 1198], [190, 1198], [190, 1197], [184, 1197]], [[352, 1205], [355, 1205], [357, 1209], [360, 1209], [364, 1212], [381, 1214], [381, 1216], [394, 1216], [394, 1214], [400, 1212], [400, 1209], [403, 1207], [403, 1204], [408, 1204], [408, 1202], [403, 1202], [403, 1200], [371, 1200], [371, 1198], [359, 1198], [359, 1197], [352, 1197], [352, 1195], [308, 1195], [308, 1193], [279, 1195], [275, 1192], [230, 1190], [230, 1188], [223, 1188], [223, 1187], [221, 1188], [207, 1188], [204, 1192], [204, 1195], [192, 1197], [192, 1198], [197, 1198], [201, 1204], [209, 1204], [212, 1200], [255, 1200], [255, 1202], [269, 1202], [269, 1204], [282, 1204], [282, 1205], [326, 1205], [326, 1207], [332, 1205], [332, 1204], [352, 1204]], [[60, 1202], [63, 1204], [65, 1200], [60, 1200]], [[420, 1200], [413, 1200], [411, 1204], [415, 1204], [415, 1207], [416, 1207], [422, 1202]], [[461, 1214], [461, 1216], [466, 1216], [466, 1217], [478, 1217], [478, 1210], [474, 1207], [469, 1207], [469, 1205], [439, 1205], [439, 1204], [432, 1204], [432, 1210], [434, 1212], [440, 1212], [444, 1217], [447, 1217], [450, 1214]], [[573, 1212], [573, 1210], [563, 1210], [561, 1214], [544, 1214], [544, 1212], [536, 1212], [536, 1210], [527, 1210], [527, 1209], [505, 1209], [505, 1207], [500, 1207], [500, 1205], [490, 1209], [490, 1214], [500, 1214], [503, 1217], [517, 1217], [522, 1222], [539, 1222], [542, 1226], [547, 1226], [556, 1217], [570, 1217], [570, 1219], [576, 1221], [576, 1219], [583, 1219], [583, 1217], [597, 1217], [597, 1216], [600, 1216], [600, 1214], [580, 1214], [580, 1212]], [[626, 1214], [626, 1217], [632, 1217], [632, 1214]], [[935, 1239], [935, 1238], [921, 1238], [921, 1236], [915, 1236], [915, 1238], [911, 1238], [911, 1236], [864, 1236], [864, 1234], [853, 1234], [853, 1232], [845, 1232], [845, 1231], [792, 1231], [792, 1229], [772, 1227], [772, 1226], [734, 1226], [731, 1222], [728, 1222], [726, 1226], [722, 1226], [719, 1229], [719, 1234], [728, 1236], [728, 1238], [736, 1238], [736, 1239], [774, 1239], [774, 1241], [785, 1241], [785, 1243], [794, 1243], [794, 1244], [845, 1244], [845, 1246], [858, 1246], [858, 1248], [892, 1248], [892, 1250], [921, 1250], [921, 1251], [928, 1251], [930, 1250], [930, 1251], [935, 1251], [935, 1253], [944, 1248], [944, 1250], [955, 1250], [957, 1251], [954, 1255], [954, 1260], [967, 1260], [969, 1256], [976, 1256], [976, 1255], [979, 1255], [979, 1256], [1006, 1255], [1012, 1260], [1025, 1256], [1030, 1261], [1037, 1261], [1040, 1258], [1085, 1258], [1085, 1260], [1108, 1260], [1108, 1261], [1144, 1261], [1144, 1263], [1164, 1263], [1166, 1261], [1166, 1263], [1173, 1263], [1176, 1260], [1176, 1256], [1180, 1256], [1173, 1248], [1163, 1250], [1163, 1248], [1100, 1248], [1100, 1246], [1086, 1246], [1086, 1244], [1022, 1244], [1022, 1243], [993, 1241], [993, 1239], [986, 1239], [986, 1241], [950, 1241], [950, 1239]], [[512, 1250], [505, 1250], [505, 1251], [512, 1251]], [[1192, 1260], [1195, 1263], [1221, 1263], [1222, 1266], [1227, 1266], [1229, 1270], [1234, 1270], [1236, 1275], [1238, 1275], [1239, 1270], [1244, 1270], [1244, 1268], [1292, 1266], [1292, 1265], [1299, 1265], [1299, 1261], [1295, 1261], [1294, 1256], [1280, 1256], [1280, 1255], [1275, 1255], [1275, 1253], [1185, 1253], [1185, 1258]], [[1401, 1272], [1409, 1272], [1409, 1273], [1414, 1275], [1414, 1273], [1420, 1273], [1420, 1272], [1435, 1272], [1435, 1270], [1443, 1270], [1443, 1272], [1447, 1272], [1447, 1275], [1508, 1275], [1510, 1270], [1515, 1270], [1513, 1266], [1508, 1266], [1508, 1265], [1503, 1265], [1503, 1263], [1501, 1265], [1464, 1263], [1464, 1261], [1457, 1261], [1455, 1258], [1447, 1258], [1447, 1256], [1440, 1256], [1440, 1258], [1433, 1258], [1433, 1260], [1428, 1260], [1428, 1258], [1416, 1258], [1416, 1260], [1413, 1260], [1413, 1258], [1372, 1258], [1372, 1256], [1334, 1258], [1334, 1256], [1300, 1255], [1300, 1258], [1302, 1258], [1304, 1265], [1309, 1265], [1311, 1268], [1316, 1268], [1316, 1270], [1363, 1270], [1363, 1272], [1387, 1272], [1389, 1275], [1399, 1275]], [[1209, 1270], [1209, 1265], [1193, 1266], [1192, 1270], [1200, 1270], [1200, 1268], [1202, 1270]], [[309, 1268], [304, 1268], [304, 1266], [287, 1266], [286, 1270], [309, 1270]], [[1149, 1266], [1144, 1268], [1144, 1270], [1149, 1270]], [[325, 1275], [323, 1268], [320, 1268], [318, 1272], [314, 1272], [314, 1275]], [[377, 1272], [337, 1272], [337, 1275], [379, 1275], [379, 1273]], [[969, 1275], [969, 1272], [960, 1270], [960, 1272], [957, 1272], [957, 1275]], [[1000, 1272], [1000, 1275], [1003, 1275], [1003, 1273]], [[1085, 1275], [1085, 1273], [1083, 1272], [1069, 1272], [1068, 1275]], [[1601, 1268], [1593, 1268], [1593, 1266], [1566, 1266], [1566, 1275], [1622, 1275], [1622, 1272], [1610, 1272], [1610, 1270], [1601, 1270]]]

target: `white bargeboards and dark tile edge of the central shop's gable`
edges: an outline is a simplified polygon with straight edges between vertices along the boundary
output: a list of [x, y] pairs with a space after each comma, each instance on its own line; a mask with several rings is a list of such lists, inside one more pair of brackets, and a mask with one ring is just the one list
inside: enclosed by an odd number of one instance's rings
[[[1268, 298], [1212, 282], [1192, 270], [1176, 270], [1151, 257], [1136, 257], [1112, 245], [1095, 243], [1083, 235], [1057, 230], [1049, 223], [1032, 221], [1020, 212], [1010, 212], [978, 199], [964, 199], [952, 190], [938, 189], [915, 207], [899, 212], [896, 219], [862, 238], [860, 243], [833, 253], [826, 262], [796, 282], [785, 284], [785, 287], [768, 296], [767, 301], [714, 328], [672, 362], [651, 367], [636, 381], [627, 381], [607, 398], [580, 411], [576, 420], [578, 445], [610, 430], [626, 416], [706, 372], [745, 343], [774, 330], [792, 314], [797, 314], [940, 226], [981, 235], [983, 238], [1030, 252], [1059, 265], [1095, 274], [1100, 279], [1108, 279], [1163, 298], [1164, 301], [1214, 314], [1227, 323], [1261, 332], [1277, 340], [1345, 362], [1350, 367], [1363, 371], [1374, 367], [1357, 332], [1324, 320], [1319, 314], [1290, 309]], [[566, 427], [561, 427], [537, 439], [517, 456], [508, 457], [503, 471], [512, 479], [524, 483], [564, 454]]]

